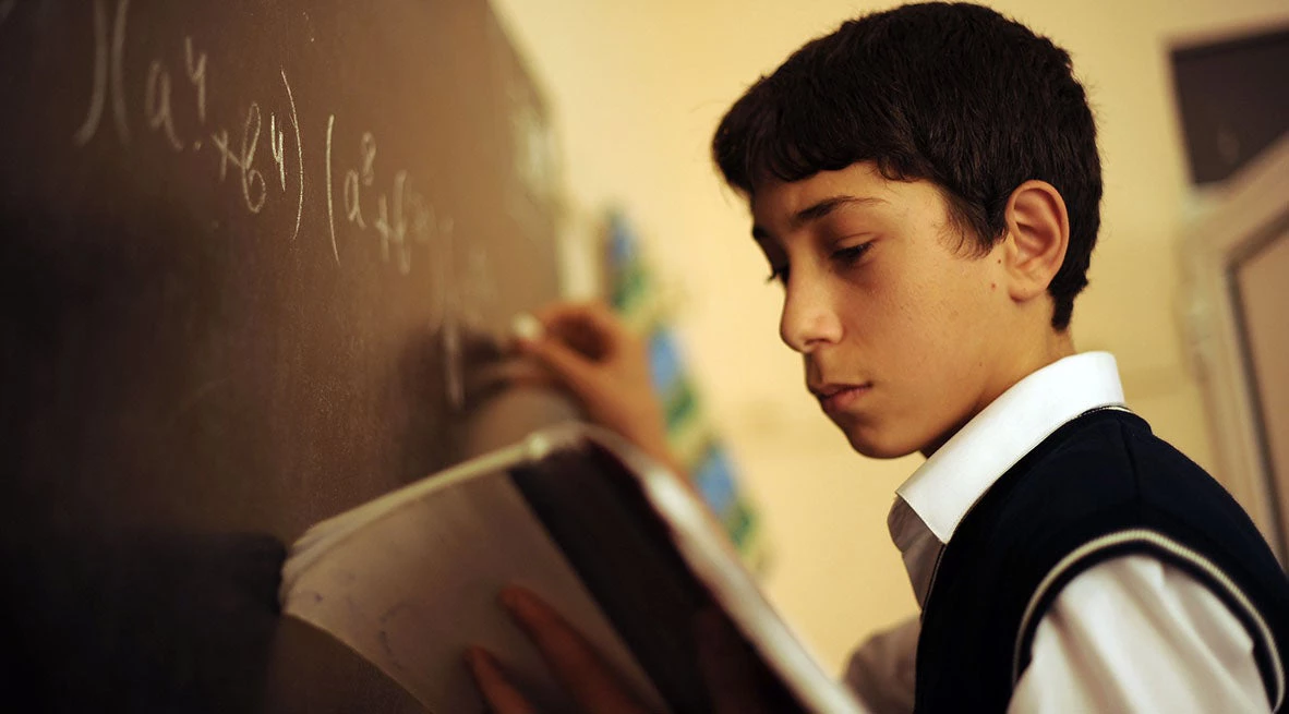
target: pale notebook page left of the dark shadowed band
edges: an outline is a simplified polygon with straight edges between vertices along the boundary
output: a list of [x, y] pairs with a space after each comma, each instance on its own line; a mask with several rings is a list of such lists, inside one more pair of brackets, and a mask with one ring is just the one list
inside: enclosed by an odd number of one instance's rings
[[483, 710], [463, 660], [472, 644], [492, 652], [539, 710], [574, 710], [496, 599], [522, 584], [594, 643], [641, 701], [665, 711], [505, 472], [450, 476], [441, 487], [418, 485], [414, 499], [396, 492], [376, 501], [384, 508], [311, 530], [284, 571], [284, 612], [331, 633], [431, 711]]

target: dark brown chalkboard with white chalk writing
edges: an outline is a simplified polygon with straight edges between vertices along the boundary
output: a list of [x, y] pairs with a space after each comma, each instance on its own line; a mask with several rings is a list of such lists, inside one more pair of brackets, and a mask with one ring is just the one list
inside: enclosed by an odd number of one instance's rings
[[415, 710], [275, 590], [312, 522], [567, 414], [472, 392], [557, 294], [486, 3], [0, 0], [0, 708]]

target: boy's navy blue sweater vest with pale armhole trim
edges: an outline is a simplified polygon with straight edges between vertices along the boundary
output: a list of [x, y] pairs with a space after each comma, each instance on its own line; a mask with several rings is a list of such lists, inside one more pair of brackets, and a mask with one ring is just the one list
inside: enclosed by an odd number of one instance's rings
[[1272, 709], [1283, 710], [1284, 570], [1203, 469], [1141, 418], [1096, 410], [1009, 469], [954, 532], [923, 610], [916, 711], [1004, 711], [1061, 588], [1129, 553], [1185, 568], [1231, 608], [1253, 638]]

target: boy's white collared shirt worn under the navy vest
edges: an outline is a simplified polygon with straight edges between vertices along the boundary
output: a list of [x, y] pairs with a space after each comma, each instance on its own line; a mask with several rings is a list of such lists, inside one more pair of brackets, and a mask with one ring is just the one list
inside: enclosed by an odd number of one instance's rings
[[[1043, 439], [1098, 409], [1127, 409], [1115, 358], [1090, 352], [1053, 362], [985, 407], [896, 490], [887, 525], [919, 607], [976, 501]], [[914, 620], [857, 650], [846, 678], [875, 713], [909, 711], [915, 651]], [[1089, 568], [1040, 620], [1008, 711], [1165, 710], [1268, 711], [1252, 639], [1204, 585], [1158, 559], [1127, 555]]]

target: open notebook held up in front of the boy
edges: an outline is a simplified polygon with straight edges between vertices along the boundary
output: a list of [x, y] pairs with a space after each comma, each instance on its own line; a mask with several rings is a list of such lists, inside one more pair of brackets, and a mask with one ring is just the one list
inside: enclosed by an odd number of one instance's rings
[[544, 711], [572, 710], [496, 601], [519, 583], [657, 711], [709, 711], [692, 620], [714, 603], [759, 657], [775, 711], [858, 713], [775, 613], [690, 487], [617, 436], [535, 432], [309, 528], [285, 613], [326, 630], [437, 714], [480, 711], [463, 664], [494, 652]]

